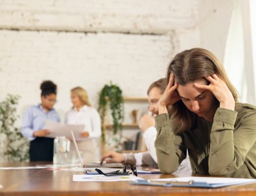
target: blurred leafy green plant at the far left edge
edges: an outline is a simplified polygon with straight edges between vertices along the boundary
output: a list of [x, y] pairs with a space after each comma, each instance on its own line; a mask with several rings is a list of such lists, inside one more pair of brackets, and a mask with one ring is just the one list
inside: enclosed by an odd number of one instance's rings
[[28, 161], [29, 142], [15, 127], [19, 96], [7, 95], [0, 102], [0, 156], [3, 161]]

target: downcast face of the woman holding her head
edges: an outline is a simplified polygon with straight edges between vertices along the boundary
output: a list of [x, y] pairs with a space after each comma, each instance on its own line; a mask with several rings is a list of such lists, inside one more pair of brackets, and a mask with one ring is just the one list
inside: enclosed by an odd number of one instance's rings
[[211, 122], [213, 120], [212, 106], [215, 101], [215, 96], [208, 90], [196, 88], [194, 83], [206, 84], [206, 81], [195, 80], [185, 85], [179, 84], [177, 91], [189, 111]]

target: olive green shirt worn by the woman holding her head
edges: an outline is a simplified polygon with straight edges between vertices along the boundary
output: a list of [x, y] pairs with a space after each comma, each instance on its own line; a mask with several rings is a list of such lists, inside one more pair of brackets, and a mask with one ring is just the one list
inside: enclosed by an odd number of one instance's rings
[[198, 118], [197, 127], [175, 134], [168, 114], [156, 117], [157, 163], [163, 173], [177, 170], [188, 150], [199, 175], [256, 178], [256, 107], [218, 108], [213, 123]]

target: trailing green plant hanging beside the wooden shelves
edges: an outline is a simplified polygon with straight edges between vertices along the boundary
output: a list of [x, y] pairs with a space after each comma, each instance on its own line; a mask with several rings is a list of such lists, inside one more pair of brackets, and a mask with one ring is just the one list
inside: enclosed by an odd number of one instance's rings
[[[124, 107], [123, 107], [123, 97], [122, 90], [119, 86], [112, 84], [105, 84], [104, 87], [99, 92], [99, 107], [98, 111], [101, 118], [101, 130], [102, 130], [102, 142], [106, 143], [105, 140], [105, 116], [107, 107], [111, 110], [111, 116], [113, 121], [113, 135], [111, 140], [115, 142], [115, 149], [117, 151], [121, 150], [120, 140], [122, 132], [122, 122], [124, 119]], [[108, 141], [111, 145], [111, 141]]]

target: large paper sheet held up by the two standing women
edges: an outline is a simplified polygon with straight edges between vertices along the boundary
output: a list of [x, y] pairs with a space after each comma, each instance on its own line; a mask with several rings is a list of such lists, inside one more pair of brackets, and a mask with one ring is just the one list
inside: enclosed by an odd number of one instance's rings
[[71, 130], [73, 130], [76, 141], [83, 141], [86, 138], [81, 137], [81, 133], [84, 130], [84, 125], [82, 124], [65, 124], [53, 121], [46, 121], [45, 129], [50, 130], [48, 138], [56, 138], [57, 136], [66, 136], [67, 138], [72, 138]]

